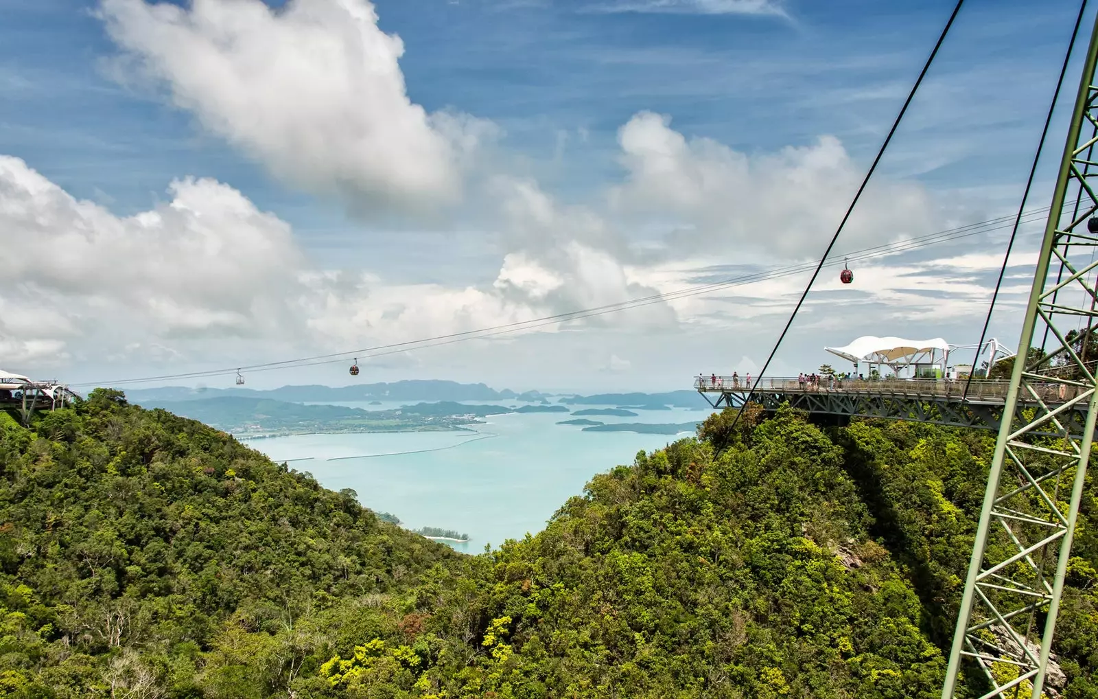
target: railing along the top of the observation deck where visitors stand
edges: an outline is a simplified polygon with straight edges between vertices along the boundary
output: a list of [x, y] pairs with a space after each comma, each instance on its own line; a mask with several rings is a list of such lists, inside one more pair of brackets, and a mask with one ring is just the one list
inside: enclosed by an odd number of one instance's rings
[[[755, 379], [751, 379], [752, 384]], [[819, 377], [818, 381], [802, 380], [793, 377], [763, 378], [755, 386], [757, 391], [782, 393], [870, 393], [874, 396], [905, 396], [945, 398], [960, 400], [965, 395], [967, 379], [864, 379], [864, 378], [828, 378]], [[751, 389], [746, 376], [705, 376], [694, 379], [694, 388], [704, 392], [746, 393]], [[1045, 384], [1031, 386], [1041, 400], [1047, 403], [1062, 403], [1078, 396], [1084, 390], [1080, 386], [1050, 380]], [[1010, 381], [998, 379], [973, 379], [968, 386], [970, 401], [1005, 401]], [[1033, 402], [1030, 395], [1019, 396], [1022, 402]]]

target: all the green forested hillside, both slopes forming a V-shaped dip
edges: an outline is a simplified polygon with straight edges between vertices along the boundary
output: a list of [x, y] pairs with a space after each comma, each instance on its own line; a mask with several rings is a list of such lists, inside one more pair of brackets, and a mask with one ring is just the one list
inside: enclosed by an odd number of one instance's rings
[[[117, 393], [9, 421], [0, 696], [938, 697], [991, 435], [753, 422], [462, 556]], [[1093, 492], [1065, 699], [1098, 697]]]

